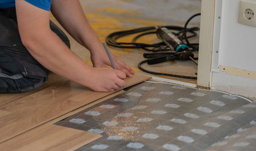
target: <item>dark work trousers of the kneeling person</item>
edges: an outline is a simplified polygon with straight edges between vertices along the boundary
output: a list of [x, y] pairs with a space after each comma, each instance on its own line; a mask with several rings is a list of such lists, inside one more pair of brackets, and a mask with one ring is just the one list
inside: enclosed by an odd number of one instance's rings
[[[70, 48], [68, 37], [51, 20], [50, 27]], [[22, 44], [15, 7], [0, 9], [0, 93], [36, 89], [48, 80], [48, 73]]]

